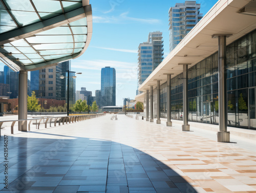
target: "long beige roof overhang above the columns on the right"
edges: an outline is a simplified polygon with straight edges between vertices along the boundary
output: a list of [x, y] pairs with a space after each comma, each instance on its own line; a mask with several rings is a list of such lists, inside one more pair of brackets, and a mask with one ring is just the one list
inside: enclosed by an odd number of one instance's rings
[[[185, 36], [180, 44], [168, 54], [160, 65], [139, 87], [139, 91], [150, 90], [150, 85], [156, 87], [167, 81], [166, 74], [172, 78], [183, 72], [179, 63], [190, 63], [189, 68], [204, 58], [218, 51], [218, 39], [214, 34], [232, 34], [227, 38], [227, 45], [256, 29], [255, 16], [241, 14], [240, 10], [250, 6], [249, 0], [220, 0], [212, 7], [200, 22]], [[255, 10], [255, 9], [254, 9]]]

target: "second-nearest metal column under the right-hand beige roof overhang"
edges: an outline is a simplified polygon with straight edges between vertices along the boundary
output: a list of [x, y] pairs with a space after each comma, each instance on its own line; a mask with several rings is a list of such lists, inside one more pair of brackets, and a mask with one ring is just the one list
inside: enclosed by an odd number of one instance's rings
[[182, 131], [190, 131], [190, 125], [188, 124], [188, 96], [187, 96], [187, 78], [188, 78], [188, 63], [183, 65], [183, 125]]

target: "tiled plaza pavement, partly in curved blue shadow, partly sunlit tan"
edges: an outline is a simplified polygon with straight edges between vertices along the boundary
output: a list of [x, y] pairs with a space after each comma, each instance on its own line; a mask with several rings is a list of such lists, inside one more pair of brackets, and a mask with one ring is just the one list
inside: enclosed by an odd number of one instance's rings
[[[0, 189], [31, 193], [256, 192], [256, 152], [180, 125], [110, 115], [8, 137]], [[4, 161], [0, 139], [0, 162]]]

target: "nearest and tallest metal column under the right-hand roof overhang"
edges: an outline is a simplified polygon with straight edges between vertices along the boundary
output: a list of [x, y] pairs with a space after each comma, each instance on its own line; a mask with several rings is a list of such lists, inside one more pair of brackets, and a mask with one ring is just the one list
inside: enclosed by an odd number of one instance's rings
[[212, 38], [219, 40], [219, 128], [218, 142], [230, 142], [227, 132], [227, 71], [226, 71], [226, 38], [231, 34], [216, 34]]

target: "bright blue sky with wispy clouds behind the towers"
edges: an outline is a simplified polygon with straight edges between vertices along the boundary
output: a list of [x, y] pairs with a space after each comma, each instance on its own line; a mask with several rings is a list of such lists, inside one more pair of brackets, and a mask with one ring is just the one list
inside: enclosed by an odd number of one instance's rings
[[[137, 90], [138, 46], [147, 41], [148, 33], [163, 32], [164, 57], [169, 53], [168, 10], [180, 0], [91, 0], [93, 36], [87, 51], [71, 60], [77, 75], [76, 90], [100, 90], [101, 68], [116, 69], [116, 105], [122, 98], [134, 99]], [[205, 15], [217, 0], [199, 0]], [[3, 70], [0, 63], [0, 71]]]

